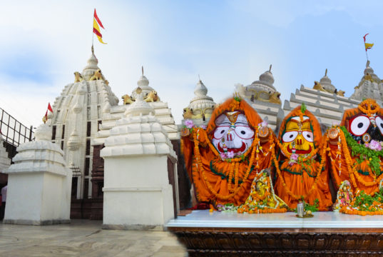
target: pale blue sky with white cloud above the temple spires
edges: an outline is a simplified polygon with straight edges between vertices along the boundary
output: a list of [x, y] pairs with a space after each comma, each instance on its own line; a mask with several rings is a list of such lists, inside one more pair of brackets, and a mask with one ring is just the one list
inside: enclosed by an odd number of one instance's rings
[[[369, 59], [383, 74], [383, 3], [369, 1], [7, 1], [1, 4], [0, 107], [38, 126], [91, 51], [93, 8], [106, 31], [95, 41], [100, 68], [118, 96], [145, 76], [177, 123], [200, 74], [219, 103], [234, 84], [256, 81], [272, 64], [290, 99], [328, 69], [337, 89], [354, 92]], [[383, 75], [380, 75], [383, 76]]]

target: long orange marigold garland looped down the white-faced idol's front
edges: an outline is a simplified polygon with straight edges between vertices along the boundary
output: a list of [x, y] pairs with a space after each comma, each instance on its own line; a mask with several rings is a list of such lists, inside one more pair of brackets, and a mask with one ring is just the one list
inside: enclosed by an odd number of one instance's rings
[[[256, 132], [257, 132], [257, 129], [256, 129]], [[269, 131], [269, 132], [270, 132], [270, 137], [269, 137], [270, 148], [272, 148], [272, 146], [271, 146], [271, 142], [272, 142], [272, 139], [273, 139], [272, 138], [272, 131]], [[240, 189], [245, 184], [245, 183], [242, 183], [240, 186], [238, 186], [238, 181], [239, 181], [239, 171], [238, 171], [238, 169], [239, 169], [239, 162], [243, 161], [245, 156], [247, 156], [251, 152], [249, 164], [247, 166], [247, 171], [245, 173], [245, 176], [242, 178], [242, 181], [245, 181], [245, 180], [247, 180], [248, 176], [250, 175], [250, 172], [252, 170], [252, 164], [254, 163], [254, 160], [255, 159], [256, 159], [256, 161], [259, 160], [259, 157], [258, 157], [258, 153], [259, 153], [258, 143], [259, 143], [260, 139], [258, 138], [258, 134], [255, 133], [255, 138], [252, 141], [252, 145], [250, 146], [250, 148], [247, 150], [247, 152], [241, 158], [231, 158], [231, 159], [225, 160], [225, 161], [231, 162], [230, 173], [229, 173], [229, 185], [228, 185], [230, 194], [227, 195], [227, 196], [223, 196], [222, 194], [220, 194], [220, 193], [218, 193], [217, 191], [214, 190], [213, 186], [211, 186], [210, 182], [208, 181], [208, 178], [206, 177], [205, 169], [203, 168], [202, 158], [200, 156], [199, 139], [198, 139], [199, 133], [200, 133], [200, 129], [198, 129], [197, 133], [193, 133], [194, 154], [195, 154], [195, 161], [196, 161], [196, 166], [198, 168], [198, 171], [202, 174], [203, 179], [204, 179], [206, 185], [208, 186], [209, 191], [211, 193], [213, 193], [213, 195], [216, 198], [218, 198], [220, 200], [224, 200], [224, 201], [228, 200], [230, 198], [233, 198], [235, 195], [237, 195], [237, 193], [240, 191]], [[202, 133], [205, 133], [204, 134], [205, 138], [208, 138], [205, 130], [202, 130]], [[210, 143], [209, 140], [207, 140], [207, 141], [208, 141], [208, 146], [213, 151], [213, 153], [215, 153], [216, 156], [219, 156], [219, 153], [218, 153], [217, 149], [215, 149], [215, 147], [213, 146], [212, 143]], [[269, 148], [269, 151], [270, 151], [270, 148]], [[267, 153], [268, 153], [268, 151], [267, 152], [263, 151], [264, 155], [267, 155]], [[233, 171], [232, 171], [232, 168], [233, 168]], [[255, 168], [257, 168], [257, 169], [259, 168], [258, 163], [257, 163], [257, 166]], [[231, 185], [231, 181], [233, 179], [233, 176], [234, 176], [234, 181], [235, 181], [234, 188], [232, 188], [232, 185]]]

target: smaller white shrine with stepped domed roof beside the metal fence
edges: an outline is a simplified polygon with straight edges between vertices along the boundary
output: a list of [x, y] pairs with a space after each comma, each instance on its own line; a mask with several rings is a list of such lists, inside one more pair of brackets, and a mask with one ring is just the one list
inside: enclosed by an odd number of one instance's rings
[[8, 173], [4, 223], [69, 223], [72, 171], [63, 151], [51, 143], [51, 127], [41, 124], [36, 141], [21, 144]]

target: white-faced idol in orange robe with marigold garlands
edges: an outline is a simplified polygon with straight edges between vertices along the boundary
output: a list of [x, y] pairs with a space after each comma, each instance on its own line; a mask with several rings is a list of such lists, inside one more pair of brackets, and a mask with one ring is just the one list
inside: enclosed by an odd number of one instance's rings
[[270, 167], [275, 136], [239, 97], [216, 107], [207, 129], [186, 120], [182, 134], [185, 165], [199, 203], [239, 206], [256, 174]]

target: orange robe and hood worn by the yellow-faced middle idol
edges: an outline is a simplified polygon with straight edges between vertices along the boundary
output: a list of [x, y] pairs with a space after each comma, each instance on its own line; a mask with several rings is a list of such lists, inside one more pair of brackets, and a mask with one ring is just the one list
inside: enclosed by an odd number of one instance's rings
[[[300, 106], [298, 106], [285, 117], [280, 126], [278, 140], [282, 140], [282, 133], [285, 131], [288, 119], [293, 116], [300, 116], [300, 112], [301, 109]], [[320, 147], [320, 141], [322, 140], [320, 124], [310, 111], [306, 110], [305, 114], [303, 115], [310, 118], [312, 132], [314, 133], [315, 148], [318, 148]], [[285, 180], [287, 188], [296, 196], [305, 196], [312, 188], [312, 185], [315, 183], [315, 179], [320, 167], [320, 151], [317, 152], [317, 157], [312, 160], [310, 166], [306, 166], [305, 163], [302, 165], [300, 163], [295, 163], [290, 166], [289, 159], [282, 155], [279, 148], [276, 149], [276, 153], [277, 151], [279, 151], [280, 155], [278, 158], [280, 171]], [[287, 203], [290, 208], [296, 208], [297, 203], [300, 201], [300, 199], [295, 199], [290, 196], [289, 193], [287, 193], [287, 190], [282, 183], [282, 179], [279, 176], [277, 176], [277, 181], [275, 181], [275, 193], [277, 196], [280, 196], [280, 198], [282, 198], [282, 200], [285, 201], [285, 203]], [[317, 185], [313, 189], [312, 193], [310, 193], [310, 195], [305, 198], [305, 201], [312, 205], [314, 204], [316, 198], [319, 201], [319, 207], [321, 211], [327, 211], [328, 207], [332, 206], [332, 198], [329, 188], [329, 176], [326, 165], [324, 165], [322, 168], [322, 172], [320, 174], [320, 178], [317, 181]]]

